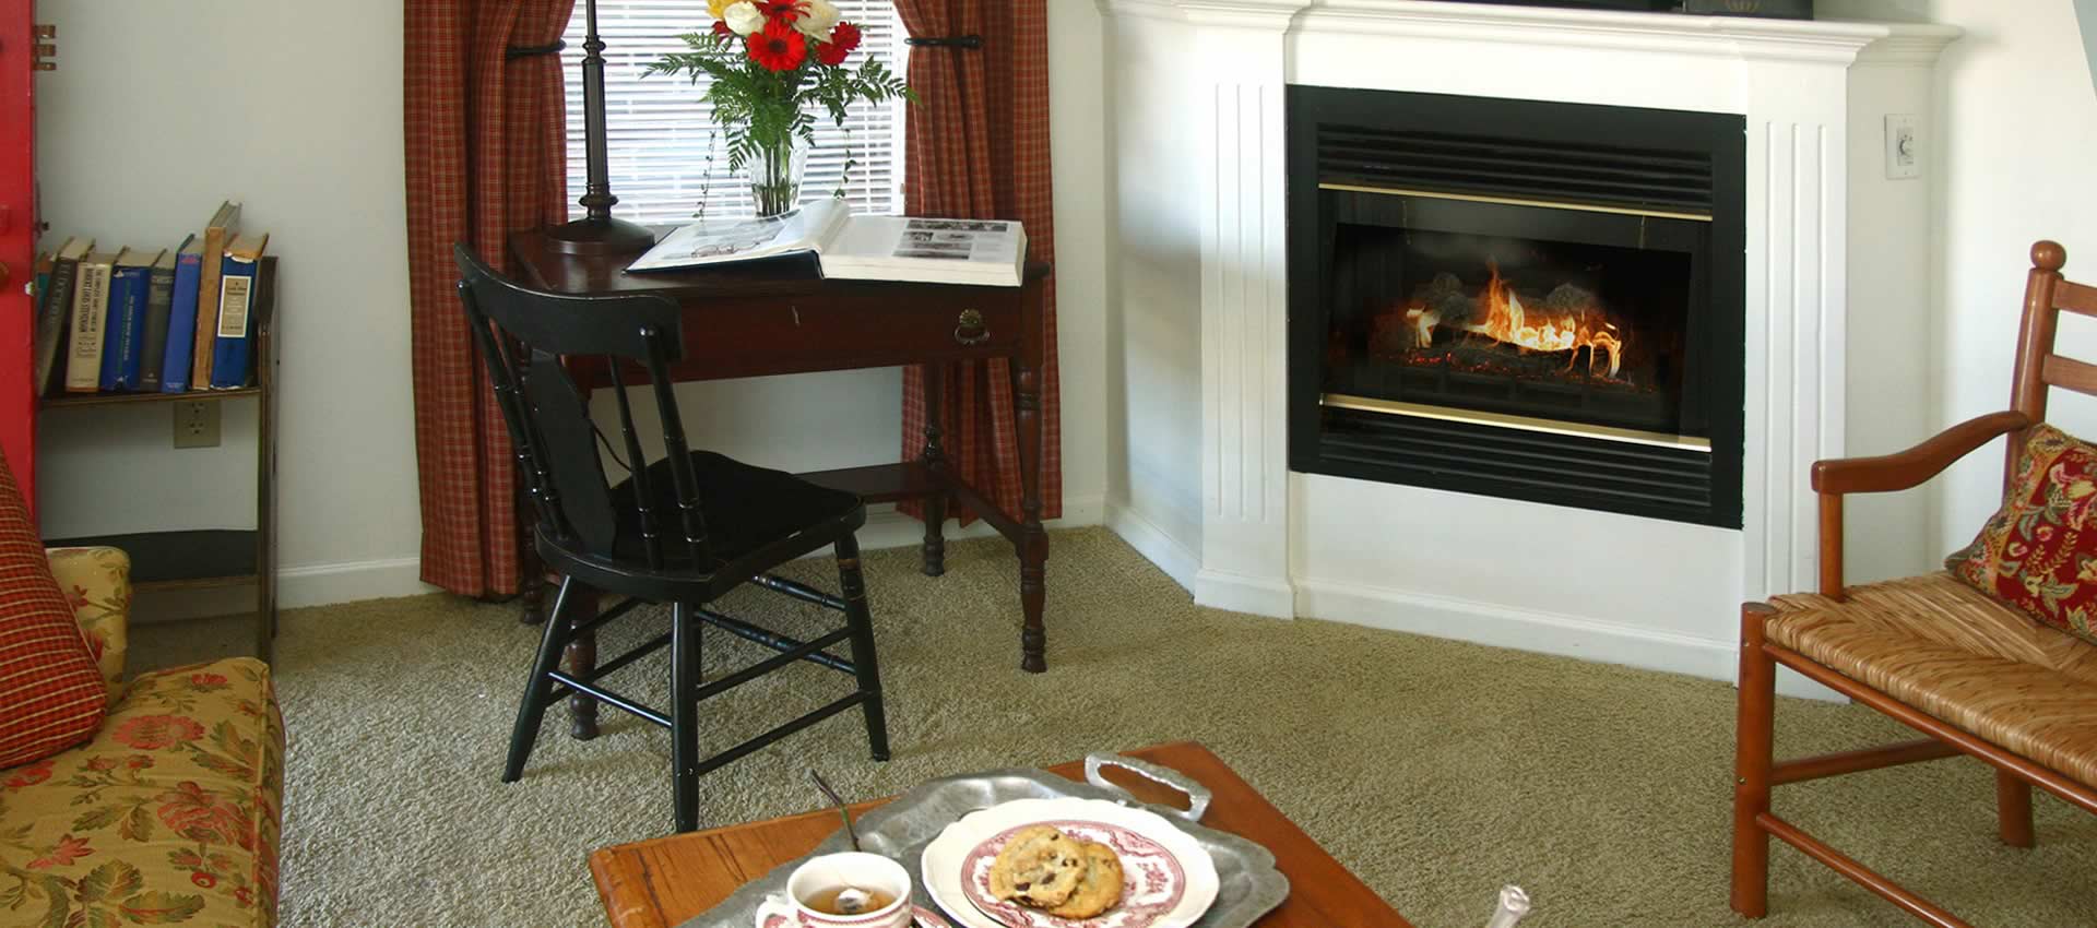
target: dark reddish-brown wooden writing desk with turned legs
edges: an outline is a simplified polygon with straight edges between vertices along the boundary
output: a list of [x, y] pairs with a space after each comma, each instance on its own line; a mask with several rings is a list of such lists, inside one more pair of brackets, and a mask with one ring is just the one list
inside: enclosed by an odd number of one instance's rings
[[[570, 256], [547, 247], [541, 233], [510, 239], [520, 277], [554, 293], [658, 293], [684, 306], [684, 360], [679, 381], [765, 377], [778, 373], [849, 371], [864, 367], [925, 367], [925, 446], [916, 461], [803, 473], [824, 486], [849, 490], [868, 503], [916, 499], [925, 503], [925, 574], [946, 572], [948, 501], [958, 501], [1013, 543], [1019, 555], [1019, 666], [1042, 672], [1042, 574], [1048, 534], [1040, 522], [1042, 467], [1042, 283], [1046, 264], [1030, 264], [1023, 287], [965, 287], [893, 281], [822, 281], [791, 260], [755, 262], [673, 274], [627, 274], [633, 256]], [[939, 434], [939, 398], [948, 360], [1011, 362], [1013, 406], [1019, 427], [1019, 511], [998, 509], [990, 494], [958, 480], [948, 467]], [[583, 388], [606, 385], [593, 371], [579, 371]], [[587, 658], [587, 660], [585, 660]], [[593, 662], [570, 651], [570, 662]], [[579, 714], [585, 706], [579, 704]], [[591, 710], [593, 712], [593, 710]], [[577, 719], [577, 737], [596, 733], [593, 716]]]

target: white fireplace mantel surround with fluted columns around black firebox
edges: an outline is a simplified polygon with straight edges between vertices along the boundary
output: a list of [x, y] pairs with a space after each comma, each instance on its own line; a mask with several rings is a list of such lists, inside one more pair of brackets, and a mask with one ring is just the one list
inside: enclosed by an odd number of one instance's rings
[[[1923, 327], [1873, 352], [1847, 331], [1927, 304], [1927, 186], [1885, 178], [1881, 126], [1927, 119], [1929, 69], [1957, 29], [1415, 0], [1099, 4], [1130, 436], [1118, 524], [1197, 601], [1728, 677], [1738, 601], [1816, 574], [1808, 465], [1921, 438], [1919, 408], [1860, 421], [1847, 402], [1856, 383], [1919, 394]], [[1745, 526], [1290, 473], [1288, 84], [1741, 113]], [[1172, 421], [1174, 396], [1199, 398], [1197, 434]], [[1170, 461], [1199, 463], [1197, 494]], [[1885, 528], [1860, 532], [1852, 564], [1921, 568], [1921, 513], [1868, 515]]]

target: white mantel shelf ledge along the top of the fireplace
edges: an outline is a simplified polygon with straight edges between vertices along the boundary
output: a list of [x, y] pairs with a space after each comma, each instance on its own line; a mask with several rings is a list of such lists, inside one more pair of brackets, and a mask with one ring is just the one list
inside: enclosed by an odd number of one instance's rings
[[1671, 50], [1774, 61], [1936, 61], [1959, 29], [1933, 23], [1757, 19], [1684, 13], [1577, 10], [1558, 6], [1430, 0], [1099, 0], [1126, 17], [1176, 19], [1290, 31], [1367, 31], [1418, 38], [1491, 38], [1606, 50]]

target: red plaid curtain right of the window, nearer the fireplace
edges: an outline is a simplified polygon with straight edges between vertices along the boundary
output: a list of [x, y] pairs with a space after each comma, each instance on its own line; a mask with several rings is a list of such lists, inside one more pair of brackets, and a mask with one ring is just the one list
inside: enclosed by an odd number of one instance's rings
[[[979, 50], [912, 48], [904, 209], [910, 216], [1019, 220], [1032, 260], [1055, 260], [1048, 186], [1046, 0], [895, 0], [910, 36], [983, 36]], [[1055, 279], [1046, 283], [1042, 354], [1042, 517], [1063, 513], [1063, 404], [1057, 373]], [[1019, 513], [1019, 434], [1004, 360], [946, 371], [942, 432], [958, 473]], [[925, 371], [904, 371], [904, 457], [925, 444]], [[912, 515], [923, 515], [906, 505]], [[963, 513], [967, 517], [967, 513]]]

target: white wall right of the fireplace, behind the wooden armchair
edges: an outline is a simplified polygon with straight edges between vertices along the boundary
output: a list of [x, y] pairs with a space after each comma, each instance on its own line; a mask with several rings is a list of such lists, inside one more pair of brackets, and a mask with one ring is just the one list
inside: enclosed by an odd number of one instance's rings
[[[1938, 63], [1940, 136], [1929, 182], [1936, 272], [1929, 306], [1931, 425], [2009, 404], [2028, 249], [2068, 247], [2068, 277], [2097, 281], [2097, 92], [2074, 0], [1835, 0], [1835, 13], [1965, 29]], [[2061, 350], [2097, 356], [2097, 325], [2061, 321]], [[2051, 419], [2097, 436], [2097, 402], [2055, 392]], [[2001, 503], [2003, 446], [1929, 486], [1931, 549], [1969, 540]]]

